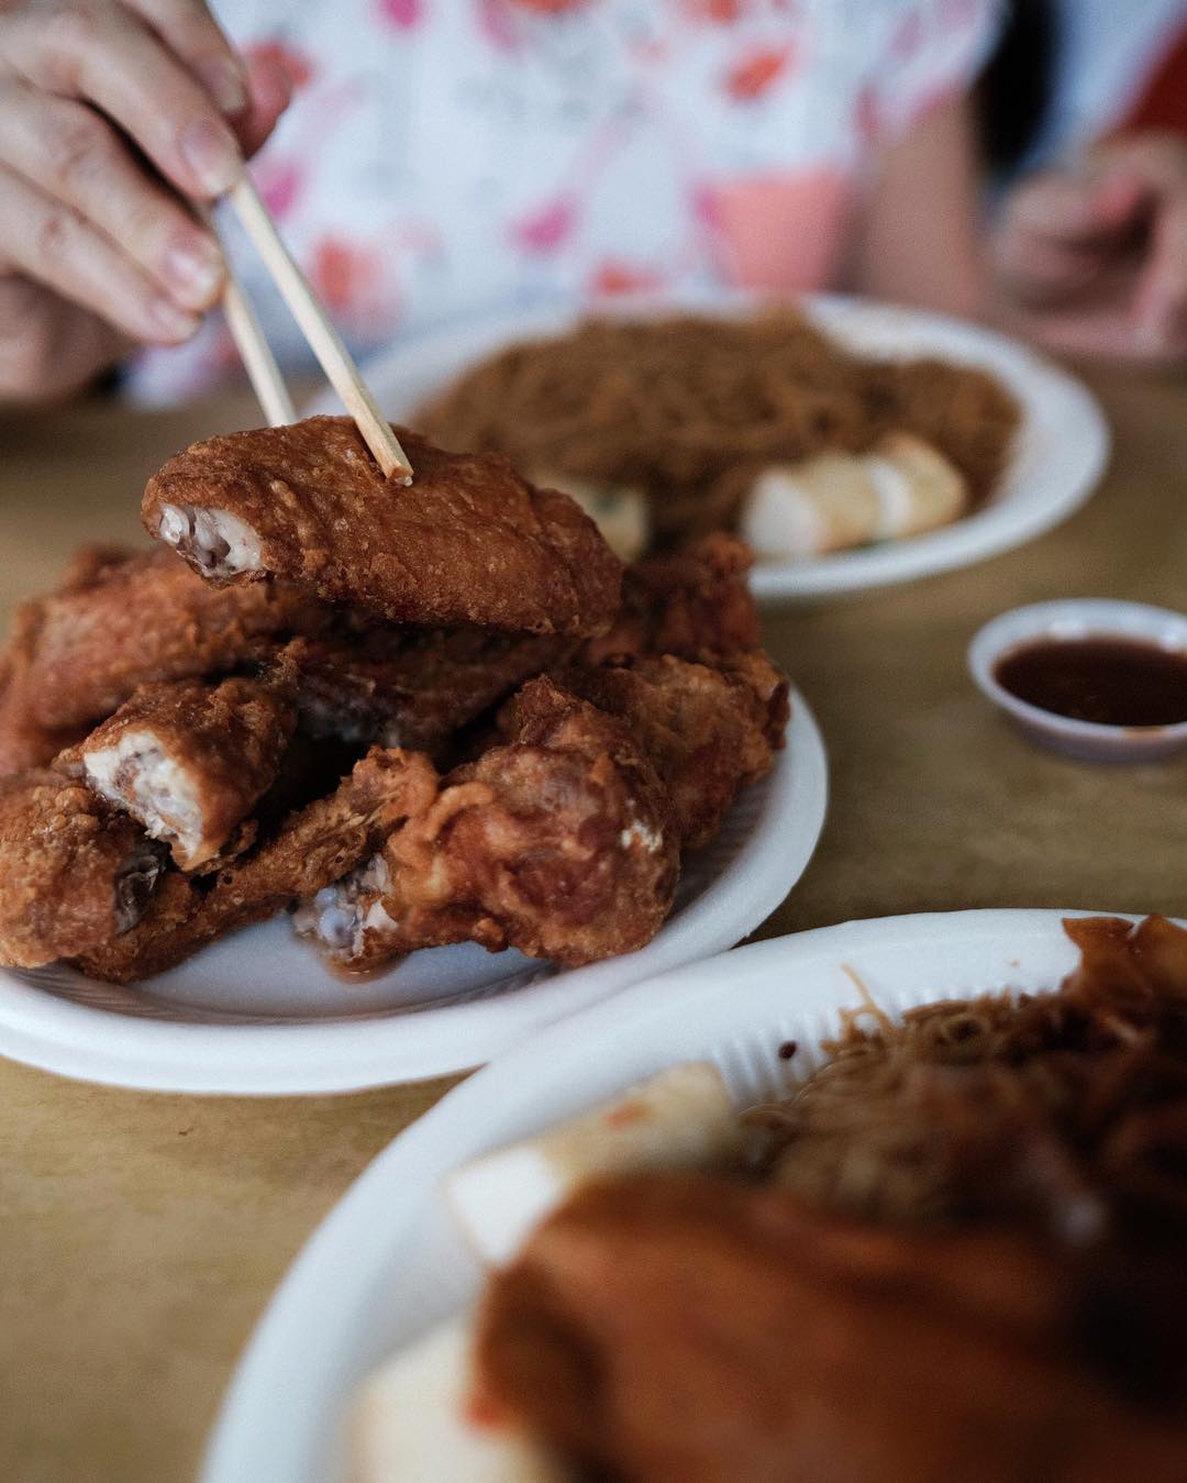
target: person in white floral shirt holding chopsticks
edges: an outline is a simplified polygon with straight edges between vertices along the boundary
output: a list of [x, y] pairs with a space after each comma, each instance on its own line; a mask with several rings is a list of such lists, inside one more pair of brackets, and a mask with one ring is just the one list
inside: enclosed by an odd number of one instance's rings
[[[0, 0], [0, 397], [236, 368], [210, 200], [261, 191], [359, 353], [725, 283], [984, 307], [965, 95], [996, 0]], [[247, 252], [287, 365], [304, 344]]]

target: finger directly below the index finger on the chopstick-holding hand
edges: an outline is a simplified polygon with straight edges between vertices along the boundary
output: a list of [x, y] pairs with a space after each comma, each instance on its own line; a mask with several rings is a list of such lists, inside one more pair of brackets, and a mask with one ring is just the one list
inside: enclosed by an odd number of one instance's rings
[[209, 308], [218, 298], [216, 242], [93, 108], [0, 82], [0, 162], [93, 222], [178, 307]]

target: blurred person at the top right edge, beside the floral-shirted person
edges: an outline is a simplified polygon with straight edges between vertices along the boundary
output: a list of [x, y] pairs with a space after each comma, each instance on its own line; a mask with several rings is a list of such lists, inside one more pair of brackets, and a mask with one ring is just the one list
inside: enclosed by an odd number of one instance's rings
[[1009, 326], [1187, 360], [1187, 0], [1017, 0], [982, 102], [990, 154], [1024, 168], [991, 237]]

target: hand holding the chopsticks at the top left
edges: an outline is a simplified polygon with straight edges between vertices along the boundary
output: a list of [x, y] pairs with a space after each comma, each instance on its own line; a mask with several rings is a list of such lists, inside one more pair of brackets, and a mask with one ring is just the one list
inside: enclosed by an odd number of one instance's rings
[[0, 0], [0, 399], [194, 334], [224, 267], [184, 200], [227, 190], [286, 104], [202, 0]]

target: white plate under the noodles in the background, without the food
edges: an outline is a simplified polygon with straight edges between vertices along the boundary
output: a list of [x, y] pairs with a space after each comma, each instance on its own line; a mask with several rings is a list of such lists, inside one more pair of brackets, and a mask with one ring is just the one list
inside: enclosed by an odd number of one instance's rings
[[[645, 316], [674, 307], [702, 313], [751, 311], [756, 300], [734, 292], [683, 294], [662, 301], [622, 300], [608, 313]], [[1085, 386], [1018, 341], [978, 325], [865, 300], [814, 295], [803, 307], [830, 334], [877, 356], [941, 356], [994, 372], [1018, 397], [1023, 424], [1014, 457], [993, 497], [975, 513], [925, 535], [814, 561], [765, 561], [753, 587], [766, 602], [817, 601], [968, 567], [1033, 540], [1067, 519], [1092, 492], [1108, 458], [1108, 424]], [[522, 308], [452, 323], [400, 341], [366, 368], [368, 384], [397, 423], [474, 362], [516, 340], [560, 335], [587, 310]], [[305, 408], [341, 412], [333, 393]]]

